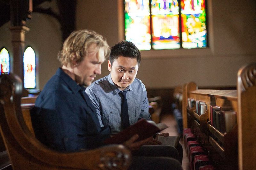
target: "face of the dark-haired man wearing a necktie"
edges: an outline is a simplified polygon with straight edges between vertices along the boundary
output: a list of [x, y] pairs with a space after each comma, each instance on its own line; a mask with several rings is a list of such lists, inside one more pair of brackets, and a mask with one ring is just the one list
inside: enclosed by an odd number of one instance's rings
[[124, 90], [134, 81], [138, 63], [136, 58], [119, 56], [111, 65], [108, 60], [108, 70], [110, 71], [112, 81], [120, 90]]

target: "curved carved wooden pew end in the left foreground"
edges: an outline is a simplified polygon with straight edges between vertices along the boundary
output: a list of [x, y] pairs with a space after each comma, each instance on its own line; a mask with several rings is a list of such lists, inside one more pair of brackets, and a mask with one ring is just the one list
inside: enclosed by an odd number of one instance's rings
[[[131, 152], [123, 145], [63, 153], [40, 143], [30, 119], [33, 103], [21, 103], [22, 82], [13, 74], [0, 75], [1, 135], [13, 169], [127, 169]], [[30, 115], [29, 115], [30, 117]], [[28, 125], [28, 126], [27, 126]]]

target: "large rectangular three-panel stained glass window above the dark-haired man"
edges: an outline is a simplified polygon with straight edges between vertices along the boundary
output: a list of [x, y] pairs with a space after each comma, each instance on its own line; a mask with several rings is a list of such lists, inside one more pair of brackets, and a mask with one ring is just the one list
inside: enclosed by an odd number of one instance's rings
[[140, 50], [207, 47], [205, 0], [124, 0], [125, 39]]

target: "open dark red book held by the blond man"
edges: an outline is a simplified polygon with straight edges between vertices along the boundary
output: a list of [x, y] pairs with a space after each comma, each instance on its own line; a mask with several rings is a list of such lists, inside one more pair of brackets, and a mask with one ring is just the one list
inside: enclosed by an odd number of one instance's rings
[[118, 144], [124, 143], [128, 139], [130, 139], [133, 135], [138, 134], [139, 138], [137, 141], [146, 139], [150, 136], [153, 136], [157, 132], [160, 132], [164, 129], [168, 128], [168, 126], [164, 123], [156, 124], [152, 120], [140, 119], [135, 124], [129, 126], [123, 131], [113, 135], [112, 137], [106, 139], [104, 143], [106, 144]]

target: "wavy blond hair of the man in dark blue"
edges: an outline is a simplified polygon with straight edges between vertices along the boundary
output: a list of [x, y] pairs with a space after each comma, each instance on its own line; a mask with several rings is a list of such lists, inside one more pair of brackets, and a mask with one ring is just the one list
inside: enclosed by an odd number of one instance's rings
[[88, 48], [92, 44], [97, 45], [97, 51], [100, 48], [104, 50], [105, 58], [109, 56], [110, 48], [102, 35], [86, 29], [73, 31], [63, 43], [62, 50], [58, 54], [61, 65], [71, 67], [73, 66], [73, 60], [77, 64], [83, 61], [84, 57], [87, 56]]

